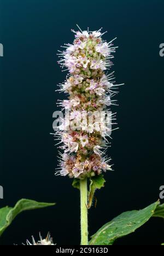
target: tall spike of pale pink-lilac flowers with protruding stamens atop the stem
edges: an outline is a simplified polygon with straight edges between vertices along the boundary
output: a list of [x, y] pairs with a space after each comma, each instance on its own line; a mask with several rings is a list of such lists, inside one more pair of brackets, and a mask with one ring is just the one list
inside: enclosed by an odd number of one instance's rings
[[115, 48], [113, 41], [107, 43], [102, 39], [101, 30], [73, 32], [74, 43], [63, 46], [65, 50], [58, 54], [63, 71], [69, 72], [58, 90], [68, 94], [69, 98], [58, 101], [58, 106], [69, 110], [71, 127], [77, 125], [77, 120], [78, 127], [69, 130], [63, 127], [56, 132], [55, 136], [62, 143], [59, 148], [64, 150], [57, 174], [83, 179], [112, 170], [110, 158], [104, 156], [109, 146], [106, 135], [111, 128], [101, 120], [99, 129], [96, 120], [92, 125], [84, 124], [81, 115], [102, 112], [115, 104], [112, 100], [116, 93], [113, 73], [105, 74], [113, 65], [111, 59]]

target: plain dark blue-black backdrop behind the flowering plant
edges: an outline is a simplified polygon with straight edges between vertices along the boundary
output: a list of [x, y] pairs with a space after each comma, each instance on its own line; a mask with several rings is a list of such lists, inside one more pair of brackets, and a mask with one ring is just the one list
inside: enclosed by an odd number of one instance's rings
[[[103, 27], [108, 41], [118, 37], [114, 69], [122, 86], [118, 100], [120, 130], [113, 133], [109, 155], [115, 172], [97, 192], [89, 214], [90, 234], [121, 212], [144, 208], [159, 199], [163, 176], [163, 1], [0, 0], [1, 207], [22, 197], [57, 202], [53, 208], [22, 213], [1, 237], [21, 244], [50, 231], [58, 245], [80, 241], [79, 192], [69, 178], [55, 177], [52, 113], [56, 84], [66, 73], [57, 49], [73, 41], [71, 28]], [[63, 96], [62, 96], [63, 97]], [[160, 245], [164, 222], [151, 219], [117, 245]]]

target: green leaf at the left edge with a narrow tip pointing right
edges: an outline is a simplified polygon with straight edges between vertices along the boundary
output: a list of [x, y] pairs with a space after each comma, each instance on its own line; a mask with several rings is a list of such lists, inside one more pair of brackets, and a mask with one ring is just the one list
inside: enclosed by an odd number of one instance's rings
[[35, 210], [39, 208], [44, 208], [48, 206], [54, 206], [55, 203], [43, 203], [36, 202], [28, 199], [21, 199], [18, 201], [14, 208], [4, 207], [0, 209], [0, 236], [3, 234], [4, 230], [8, 228], [11, 222], [15, 219], [17, 214], [27, 211]]

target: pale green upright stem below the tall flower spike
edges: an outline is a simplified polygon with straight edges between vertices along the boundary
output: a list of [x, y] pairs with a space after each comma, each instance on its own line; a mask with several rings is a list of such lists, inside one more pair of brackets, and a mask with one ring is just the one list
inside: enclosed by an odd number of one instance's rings
[[81, 245], [88, 245], [87, 178], [80, 181]]

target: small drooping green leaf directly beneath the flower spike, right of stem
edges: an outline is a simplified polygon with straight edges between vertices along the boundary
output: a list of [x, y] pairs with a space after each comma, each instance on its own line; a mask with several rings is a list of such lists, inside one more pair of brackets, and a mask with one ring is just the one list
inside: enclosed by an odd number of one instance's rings
[[92, 201], [93, 201], [93, 196], [95, 195], [96, 189], [101, 189], [104, 187], [104, 183], [106, 180], [103, 178], [103, 175], [98, 175], [90, 178], [90, 191], [89, 191], [89, 203], [88, 203], [88, 208], [90, 209], [92, 206]]

